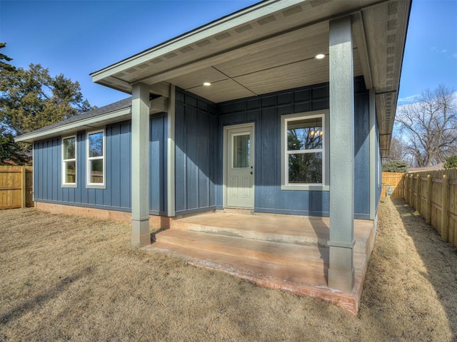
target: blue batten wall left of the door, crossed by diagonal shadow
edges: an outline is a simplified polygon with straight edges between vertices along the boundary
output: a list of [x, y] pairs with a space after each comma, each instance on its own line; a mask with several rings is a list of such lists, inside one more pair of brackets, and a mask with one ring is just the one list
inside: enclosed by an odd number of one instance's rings
[[216, 209], [217, 132], [214, 103], [176, 88], [176, 214]]

